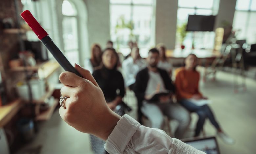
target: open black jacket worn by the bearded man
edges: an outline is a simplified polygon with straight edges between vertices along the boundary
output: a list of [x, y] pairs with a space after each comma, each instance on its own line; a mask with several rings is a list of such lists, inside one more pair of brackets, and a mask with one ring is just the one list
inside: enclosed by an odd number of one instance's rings
[[[172, 80], [169, 77], [168, 73], [165, 70], [160, 68], [158, 68], [158, 72], [163, 79], [165, 88], [174, 93], [175, 87], [172, 84]], [[142, 116], [141, 106], [142, 106], [142, 101], [145, 99], [145, 92], [146, 92], [148, 80], [149, 80], [149, 74], [148, 74], [148, 68], [146, 67], [137, 73], [136, 81], [133, 88], [138, 101], [138, 119], [140, 123], [141, 123], [141, 116]]]

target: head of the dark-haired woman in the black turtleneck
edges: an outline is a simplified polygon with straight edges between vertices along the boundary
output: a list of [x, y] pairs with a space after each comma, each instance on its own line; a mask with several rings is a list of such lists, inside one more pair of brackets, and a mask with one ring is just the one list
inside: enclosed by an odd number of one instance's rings
[[102, 53], [102, 63], [108, 69], [116, 69], [118, 55], [114, 48], [106, 48]]

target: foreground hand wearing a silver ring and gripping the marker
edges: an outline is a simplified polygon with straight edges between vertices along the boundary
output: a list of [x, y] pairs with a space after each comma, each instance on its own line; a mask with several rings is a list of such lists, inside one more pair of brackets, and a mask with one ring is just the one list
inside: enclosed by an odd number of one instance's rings
[[120, 116], [109, 109], [104, 95], [88, 70], [75, 64], [75, 69], [84, 77], [71, 72], [59, 76], [65, 86], [61, 94], [68, 97], [60, 107], [61, 118], [75, 129], [107, 140]]

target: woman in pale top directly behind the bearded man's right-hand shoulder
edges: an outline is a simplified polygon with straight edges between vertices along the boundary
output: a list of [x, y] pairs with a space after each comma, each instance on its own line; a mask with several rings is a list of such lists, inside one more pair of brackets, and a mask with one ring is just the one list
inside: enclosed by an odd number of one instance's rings
[[165, 69], [170, 76], [172, 76], [172, 64], [168, 61], [165, 55], [166, 48], [164, 45], [160, 44], [157, 46], [159, 50], [159, 61], [157, 64], [158, 68]]

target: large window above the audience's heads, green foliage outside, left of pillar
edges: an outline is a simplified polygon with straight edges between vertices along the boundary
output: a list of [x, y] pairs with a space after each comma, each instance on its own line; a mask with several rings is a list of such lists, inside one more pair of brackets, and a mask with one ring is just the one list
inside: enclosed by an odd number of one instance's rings
[[140, 52], [153, 45], [153, 0], [110, 0], [110, 33], [114, 47], [124, 55], [128, 42], [137, 42]]

